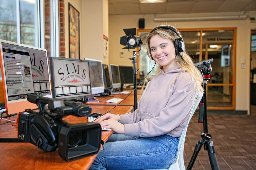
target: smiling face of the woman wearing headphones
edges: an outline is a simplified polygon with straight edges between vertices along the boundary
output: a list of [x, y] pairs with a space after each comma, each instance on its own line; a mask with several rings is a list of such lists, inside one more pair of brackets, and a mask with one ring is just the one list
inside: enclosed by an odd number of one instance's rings
[[154, 35], [151, 37], [149, 45], [153, 59], [163, 66], [164, 72], [176, 65], [175, 49], [171, 40]]

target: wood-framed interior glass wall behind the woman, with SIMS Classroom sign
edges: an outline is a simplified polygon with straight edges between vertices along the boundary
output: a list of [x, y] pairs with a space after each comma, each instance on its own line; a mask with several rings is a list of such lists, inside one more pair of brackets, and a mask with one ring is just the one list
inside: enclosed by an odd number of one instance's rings
[[[196, 63], [213, 58], [211, 79], [207, 83], [208, 109], [235, 109], [235, 49], [236, 28], [178, 29], [185, 41], [187, 53]], [[137, 30], [144, 42], [151, 30]], [[149, 62], [145, 44], [137, 59], [137, 67], [147, 74]], [[149, 76], [152, 78], [158, 67]], [[137, 77], [138, 78], [138, 77]]]

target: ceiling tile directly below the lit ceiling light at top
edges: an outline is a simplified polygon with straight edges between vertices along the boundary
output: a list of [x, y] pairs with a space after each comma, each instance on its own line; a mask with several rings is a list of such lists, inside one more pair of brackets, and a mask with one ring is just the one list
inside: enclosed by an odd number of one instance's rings
[[166, 3], [141, 3], [142, 14], [163, 14], [166, 13]]

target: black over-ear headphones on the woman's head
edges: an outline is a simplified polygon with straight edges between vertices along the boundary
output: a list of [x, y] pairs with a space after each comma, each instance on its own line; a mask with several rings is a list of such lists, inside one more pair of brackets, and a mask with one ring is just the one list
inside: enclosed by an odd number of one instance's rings
[[[185, 51], [185, 43], [183, 41], [181, 33], [177, 29], [175, 29], [171, 26], [168, 26], [168, 25], [161, 25], [161, 26], [155, 27], [154, 29], [152, 29], [150, 31], [150, 33], [154, 32], [155, 30], [160, 29], [160, 28], [170, 29], [171, 31], [175, 32], [179, 36], [179, 38], [175, 39], [175, 41], [174, 41], [174, 49], [175, 49], [176, 55], [182, 55], [182, 52]], [[150, 54], [151, 54], [151, 52], [150, 52]], [[153, 60], [153, 57], [150, 57], [150, 58]]]

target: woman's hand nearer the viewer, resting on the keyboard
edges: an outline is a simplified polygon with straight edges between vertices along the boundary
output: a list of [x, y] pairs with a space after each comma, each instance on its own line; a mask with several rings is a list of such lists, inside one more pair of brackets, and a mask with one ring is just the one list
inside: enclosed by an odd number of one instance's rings
[[125, 125], [121, 124], [120, 122], [108, 119], [103, 120], [100, 122], [101, 127], [103, 128], [111, 128], [115, 133], [124, 134], [125, 133]]

